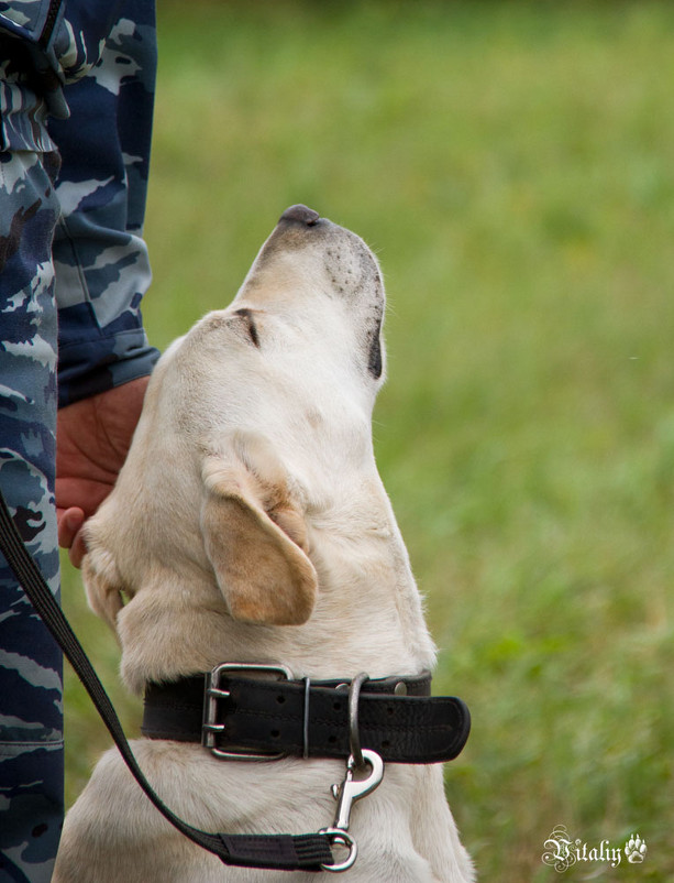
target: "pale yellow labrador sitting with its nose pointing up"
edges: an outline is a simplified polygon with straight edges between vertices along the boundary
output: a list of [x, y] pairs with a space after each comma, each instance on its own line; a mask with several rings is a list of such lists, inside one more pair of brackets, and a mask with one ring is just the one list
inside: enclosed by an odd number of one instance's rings
[[[344, 796], [331, 785], [351, 777], [344, 756], [352, 752], [353, 761], [361, 735], [364, 745], [374, 744], [367, 709], [397, 715], [398, 700], [405, 708], [441, 701], [413, 696], [433, 666], [434, 647], [373, 455], [383, 313], [382, 275], [365, 243], [305, 206], [289, 208], [233, 303], [207, 315], [157, 363], [128, 461], [89, 523], [89, 602], [119, 636], [126, 685], [137, 694], [155, 685], [159, 697], [152, 738], [134, 741], [134, 752], [162, 799], [200, 829], [301, 835], [330, 828], [335, 797]], [[289, 677], [287, 695], [251, 712], [257, 726], [267, 715], [276, 719], [275, 704], [300, 709], [299, 742], [288, 737], [283, 759], [246, 763], [240, 754], [273, 752], [284, 720], [262, 742], [255, 727], [247, 741], [234, 727], [235, 744], [228, 748], [228, 724], [213, 709], [206, 743], [214, 751], [199, 737], [170, 738], [174, 724], [183, 727], [183, 700], [170, 685], [189, 685], [232, 661], [283, 665], [280, 673], [235, 669], [242, 702], [246, 677], [261, 689], [284, 686], [277, 680], [284, 672]], [[352, 683], [361, 672], [369, 676], [358, 682], [362, 730]], [[220, 689], [230, 675], [225, 668], [214, 687], [209, 682], [207, 706], [222, 699], [224, 707], [234, 695], [235, 677], [229, 690]], [[174, 715], [177, 707], [177, 723], [162, 717], [167, 684], [166, 706]], [[336, 699], [324, 715], [316, 712], [328, 694]], [[197, 701], [186, 700], [191, 712]], [[334, 708], [343, 716], [346, 706], [342, 730], [323, 732], [321, 715]], [[400, 719], [400, 732], [416, 726], [408, 718]], [[358, 847], [345, 879], [471, 881], [442, 764], [415, 756], [416, 743], [440, 724], [422, 722], [389, 763], [397, 727], [384, 727], [379, 742], [373, 737], [384, 757], [382, 784], [355, 807], [342, 800], [342, 809], [352, 809], [349, 831]], [[346, 731], [347, 749], [331, 754]], [[314, 748], [314, 735], [324, 750]], [[343, 852], [340, 842], [331, 841], [336, 852]], [[309, 871], [225, 866], [159, 815], [112, 750], [68, 813], [54, 883], [316, 879]]]

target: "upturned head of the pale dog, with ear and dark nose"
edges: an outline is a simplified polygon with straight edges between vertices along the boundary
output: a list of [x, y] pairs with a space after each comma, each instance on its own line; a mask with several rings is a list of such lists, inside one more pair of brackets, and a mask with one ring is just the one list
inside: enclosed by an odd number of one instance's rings
[[87, 532], [96, 612], [114, 625], [121, 592], [168, 566], [214, 577], [234, 619], [310, 617], [307, 513], [374, 466], [383, 315], [365, 243], [305, 206], [285, 211], [233, 303], [157, 363], [128, 461]]

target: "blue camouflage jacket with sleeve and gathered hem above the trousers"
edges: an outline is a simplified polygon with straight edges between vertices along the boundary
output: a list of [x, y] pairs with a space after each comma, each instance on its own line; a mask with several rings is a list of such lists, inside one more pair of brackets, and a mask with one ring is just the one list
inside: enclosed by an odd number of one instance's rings
[[[142, 227], [156, 35], [154, 0], [80, 0], [62, 13], [54, 0], [0, 0], [2, 146], [57, 148], [63, 160], [54, 262], [65, 405], [150, 373], [158, 356], [140, 313], [151, 280]], [[65, 84], [68, 119], [48, 118], [55, 92], [53, 83], [36, 89], [35, 53]]]

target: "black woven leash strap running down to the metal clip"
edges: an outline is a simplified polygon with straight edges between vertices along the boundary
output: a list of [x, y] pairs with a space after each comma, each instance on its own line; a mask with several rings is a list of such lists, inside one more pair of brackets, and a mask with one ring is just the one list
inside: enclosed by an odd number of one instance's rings
[[52, 633], [89, 694], [133, 777], [150, 800], [180, 833], [212, 852], [224, 864], [279, 871], [320, 871], [334, 864], [329, 837], [308, 835], [208, 833], [176, 816], [154, 792], [131, 751], [117, 712], [37, 565], [25, 547], [0, 491], [0, 552], [35, 611]]

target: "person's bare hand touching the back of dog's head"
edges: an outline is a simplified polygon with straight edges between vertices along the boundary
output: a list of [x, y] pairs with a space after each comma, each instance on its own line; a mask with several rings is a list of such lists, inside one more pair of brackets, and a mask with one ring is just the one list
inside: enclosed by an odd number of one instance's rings
[[82, 399], [58, 412], [56, 517], [58, 545], [75, 567], [86, 553], [82, 526], [112, 490], [141, 416], [150, 378]]

